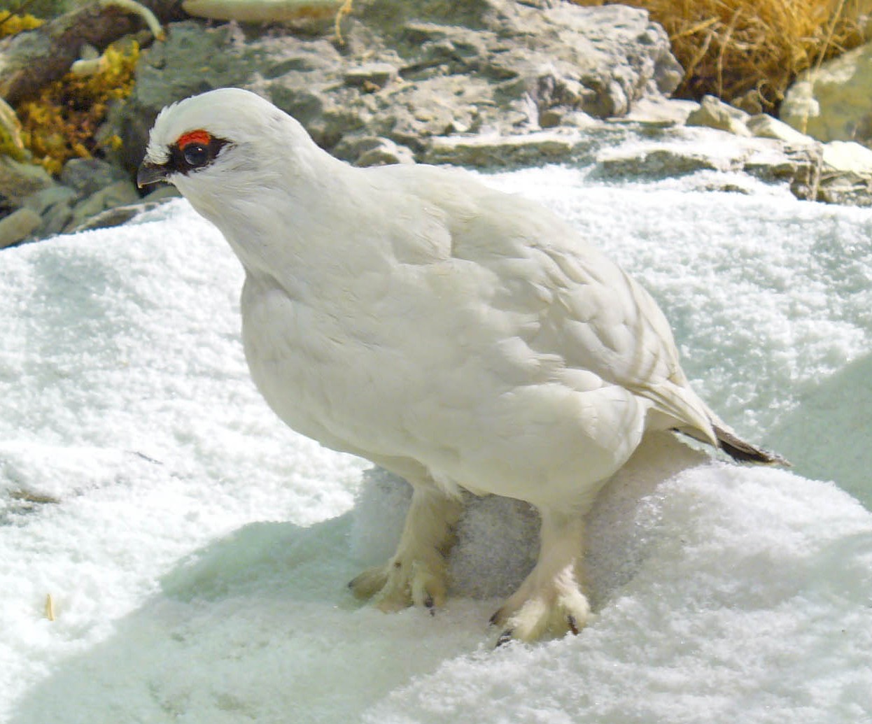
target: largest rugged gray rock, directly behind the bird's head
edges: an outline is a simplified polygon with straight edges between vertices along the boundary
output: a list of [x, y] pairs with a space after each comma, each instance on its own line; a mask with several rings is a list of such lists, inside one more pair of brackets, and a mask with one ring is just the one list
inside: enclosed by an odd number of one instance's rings
[[163, 105], [221, 85], [262, 93], [328, 150], [369, 135], [421, 159], [441, 136], [621, 116], [681, 78], [664, 30], [618, 5], [364, 0], [344, 20], [341, 52], [320, 37], [234, 27], [170, 24], [142, 54], [133, 95], [103, 130], [125, 139], [116, 160], [128, 173]]

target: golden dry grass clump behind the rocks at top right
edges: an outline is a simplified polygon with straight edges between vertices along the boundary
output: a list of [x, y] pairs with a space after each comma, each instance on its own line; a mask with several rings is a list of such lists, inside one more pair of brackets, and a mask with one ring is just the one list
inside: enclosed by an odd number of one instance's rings
[[[602, 5], [603, 0], [575, 0]], [[870, 0], [620, 0], [664, 26], [685, 68], [676, 95], [772, 111], [800, 71], [863, 42]]]

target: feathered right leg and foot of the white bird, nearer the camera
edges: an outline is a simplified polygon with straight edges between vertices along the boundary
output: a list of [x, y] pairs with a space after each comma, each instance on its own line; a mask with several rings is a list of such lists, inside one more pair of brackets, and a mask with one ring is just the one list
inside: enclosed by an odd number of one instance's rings
[[583, 518], [576, 512], [540, 509], [539, 558], [521, 587], [491, 623], [503, 627], [497, 646], [511, 639], [578, 633], [590, 613], [582, 593]]

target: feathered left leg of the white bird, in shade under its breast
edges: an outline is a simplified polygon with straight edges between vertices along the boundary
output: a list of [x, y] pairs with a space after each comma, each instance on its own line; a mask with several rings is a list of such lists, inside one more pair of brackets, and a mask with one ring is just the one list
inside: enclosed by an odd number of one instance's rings
[[446, 599], [447, 554], [463, 505], [431, 485], [412, 486], [397, 552], [385, 564], [361, 573], [349, 584], [359, 599], [375, 597], [382, 611], [426, 606], [433, 612]]

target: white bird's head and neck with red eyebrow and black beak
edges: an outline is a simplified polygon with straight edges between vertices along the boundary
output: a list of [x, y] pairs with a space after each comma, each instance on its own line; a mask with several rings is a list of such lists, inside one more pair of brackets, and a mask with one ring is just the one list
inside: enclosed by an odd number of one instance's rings
[[324, 197], [342, 185], [348, 168], [269, 101], [221, 88], [160, 112], [137, 183], [176, 186], [246, 257], [243, 263], [254, 263], [249, 247], [258, 240], [307, 220], [323, 222]]

